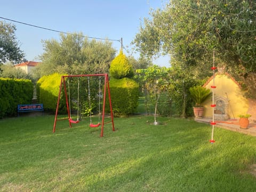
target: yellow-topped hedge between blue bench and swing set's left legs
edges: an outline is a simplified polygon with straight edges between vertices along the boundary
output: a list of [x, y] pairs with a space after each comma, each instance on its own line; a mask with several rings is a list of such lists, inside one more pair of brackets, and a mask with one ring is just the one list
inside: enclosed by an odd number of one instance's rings
[[[55, 112], [58, 102], [61, 74], [54, 73], [41, 77], [37, 81], [37, 97], [40, 103], [43, 103], [44, 109], [49, 112]], [[59, 111], [66, 110], [65, 97], [63, 91], [59, 103]]]

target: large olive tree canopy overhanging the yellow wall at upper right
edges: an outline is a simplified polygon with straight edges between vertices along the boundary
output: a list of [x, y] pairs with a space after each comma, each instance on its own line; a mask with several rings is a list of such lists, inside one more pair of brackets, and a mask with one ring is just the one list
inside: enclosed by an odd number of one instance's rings
[[213, 50], [229, 70], [256, 73], [256, 2], [172, 0], [144, 19], [133, 43], [149, 58], [171, 54], [172, 66], [195, 77], [209, 75]]

